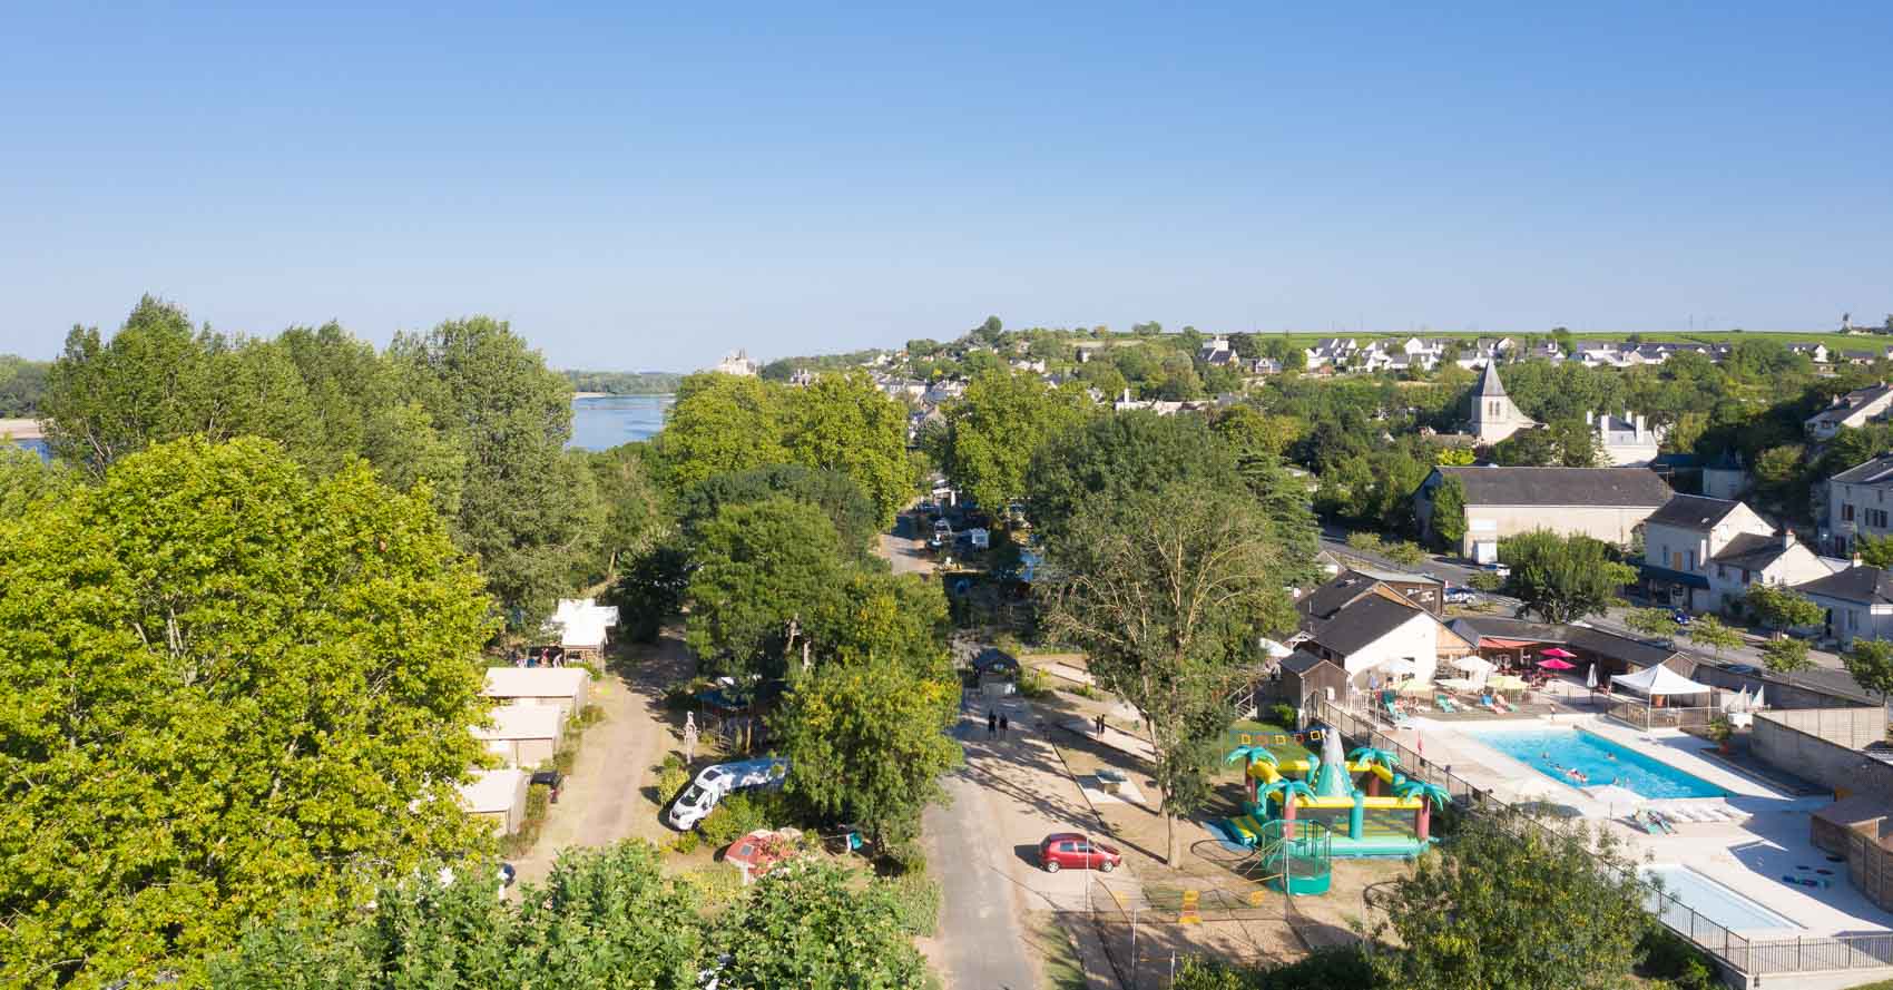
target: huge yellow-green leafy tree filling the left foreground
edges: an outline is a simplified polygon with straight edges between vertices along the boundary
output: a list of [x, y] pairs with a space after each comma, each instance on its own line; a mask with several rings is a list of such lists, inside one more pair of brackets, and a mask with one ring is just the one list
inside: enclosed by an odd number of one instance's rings
[[483, 844], [479, 575], [420, 498], [261, 439], [0, 522], [9, 986], [150, 975]]

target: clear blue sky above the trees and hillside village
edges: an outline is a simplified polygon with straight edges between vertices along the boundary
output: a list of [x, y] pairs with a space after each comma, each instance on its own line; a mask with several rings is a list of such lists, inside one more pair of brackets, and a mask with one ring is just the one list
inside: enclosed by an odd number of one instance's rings
[[17, 4], [0, 350], [142, 292], [606, 369], [1893, 310], [1893, 4], [1312, 6]]

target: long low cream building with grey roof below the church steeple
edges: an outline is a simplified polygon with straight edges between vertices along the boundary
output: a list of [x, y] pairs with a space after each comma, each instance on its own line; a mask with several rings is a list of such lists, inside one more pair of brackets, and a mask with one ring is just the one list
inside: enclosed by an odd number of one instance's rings
[[1673, 494], [1645, 468], [1433, 468], [1414, 492], [1414, 515], [1433, 534], [1433, 492], [1448, 479], [1465, 490], [1460, 553], [1488, 564], [1507, 536], [1550, 530], [1628, 547], [1637, 526]]

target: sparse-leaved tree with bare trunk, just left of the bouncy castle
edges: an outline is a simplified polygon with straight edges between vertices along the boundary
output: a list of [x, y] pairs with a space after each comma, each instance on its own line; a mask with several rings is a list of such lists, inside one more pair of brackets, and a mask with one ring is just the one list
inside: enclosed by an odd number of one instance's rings
[[1088, 500], [1049, 541], [1060, 577], [1047, 628], [1143, 719], [1172, 863], [1174, 820], [1206, 797], [1202, 744], [1227, 725], [1229, 691], [1259, 663], [1255, 642], [1293, 625], [1280, 557], [1249, 498], [1191, 483]]

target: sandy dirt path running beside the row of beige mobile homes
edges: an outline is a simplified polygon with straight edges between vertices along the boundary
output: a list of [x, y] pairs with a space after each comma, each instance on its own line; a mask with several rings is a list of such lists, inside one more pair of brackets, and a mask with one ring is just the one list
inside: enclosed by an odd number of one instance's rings
[[615, 649], [610, 670], [593, 687], [593, 704], [604, 708], [606, 721], [585, 733], [577, 765], [545, 818], [540, 842], [513, 861], [521, 880], [545, 878], [558, 852], [572, 846], [670, 837], [644, 789], [655, 784], [653, 767], [674, 740], [663, 689], [695, 670], [681, 634], [672, 627], [655, 644]]

